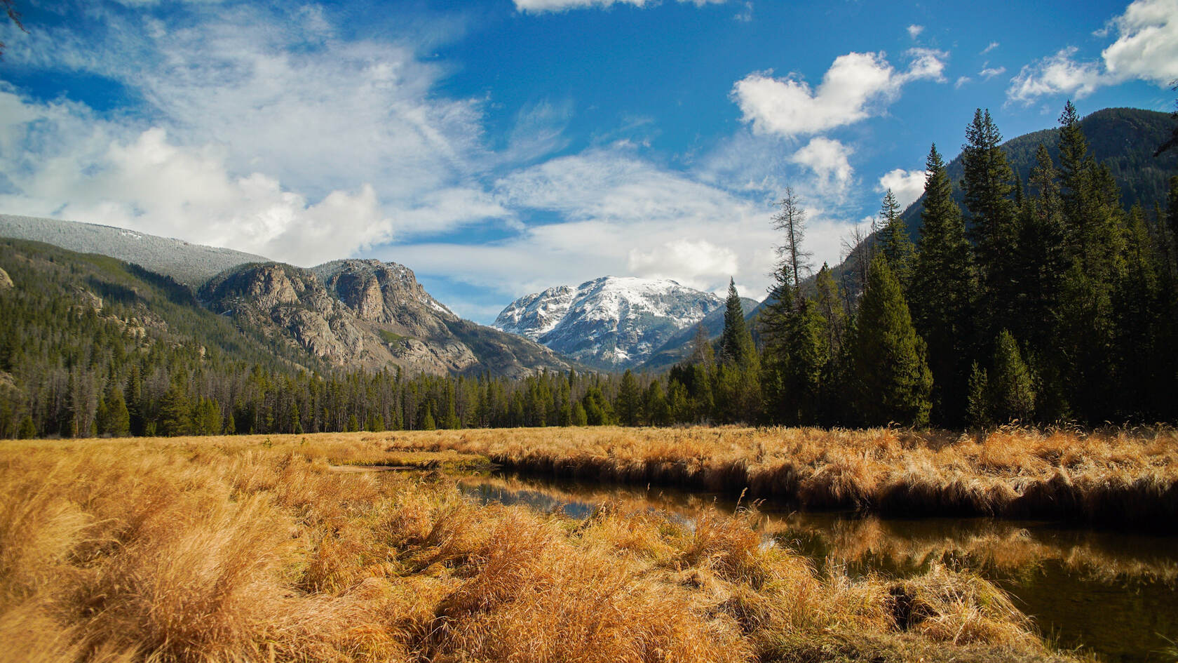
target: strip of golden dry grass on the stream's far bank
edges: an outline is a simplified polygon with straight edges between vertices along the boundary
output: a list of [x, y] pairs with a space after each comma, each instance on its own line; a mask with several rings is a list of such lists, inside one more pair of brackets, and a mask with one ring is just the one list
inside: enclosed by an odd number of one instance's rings
[[1178, 431], [527, 428], [385, 434], [551, 477], [675, 485], [803, 508], [1178, 529]]

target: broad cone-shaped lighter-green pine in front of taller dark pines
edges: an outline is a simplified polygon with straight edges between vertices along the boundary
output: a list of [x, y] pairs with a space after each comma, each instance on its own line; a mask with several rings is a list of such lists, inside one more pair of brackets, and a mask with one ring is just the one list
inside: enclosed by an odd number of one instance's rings
[[933, 376], [900, 282], [876, 256], [859, 306], [854, 372], [860, 415], [869, 426], [928, 424]]

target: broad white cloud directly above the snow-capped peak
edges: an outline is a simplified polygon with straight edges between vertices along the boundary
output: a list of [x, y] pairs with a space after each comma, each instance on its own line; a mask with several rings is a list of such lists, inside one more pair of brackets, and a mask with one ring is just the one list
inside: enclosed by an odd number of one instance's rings
[[[418, 274], [490, 285], [516, 297], [614, 275], [674, 278], [715, 290], [728, 278], [761, 297], [773, 268], [772, 209], [615, 144], [514, 172], [496, 185], [504, 206], [558, 223], [531, 223], [491, 243], [423, 242], [378, 249], [412, 255]], [[835, 249], [836, 250], [836, 249]]]

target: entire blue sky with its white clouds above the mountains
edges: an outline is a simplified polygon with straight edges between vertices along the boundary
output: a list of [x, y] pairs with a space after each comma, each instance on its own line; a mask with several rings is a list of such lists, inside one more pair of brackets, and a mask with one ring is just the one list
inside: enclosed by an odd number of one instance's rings
[[413, 269], [490, 322], [613, 275], [760, 298], [790, 185], [815, 267], [975, 107], [1169, 111], [1178, 0], [18, 0], [0, 211]]

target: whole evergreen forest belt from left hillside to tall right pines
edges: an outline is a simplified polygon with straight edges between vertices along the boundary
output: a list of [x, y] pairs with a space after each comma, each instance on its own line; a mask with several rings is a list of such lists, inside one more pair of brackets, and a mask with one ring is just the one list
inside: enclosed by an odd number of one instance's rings
[[1176, 421], [1178, 177], [1164, 205], [1126, 210], [1071, 104], [1060, 124], [1024, 178], [979, 110], [964, 204], [933, 146], [915, 241], [888, 192], [879, 228], [854, 244], [849, 285], [822, 265], [810, 287], [806, 210], [787, 190], [768, 304], [746, 322], [730, 287], [721, 336], [699, 329], [691, 355], [659, 375], [332, 370], [167, 277], [2, 241], [0, 438]]

